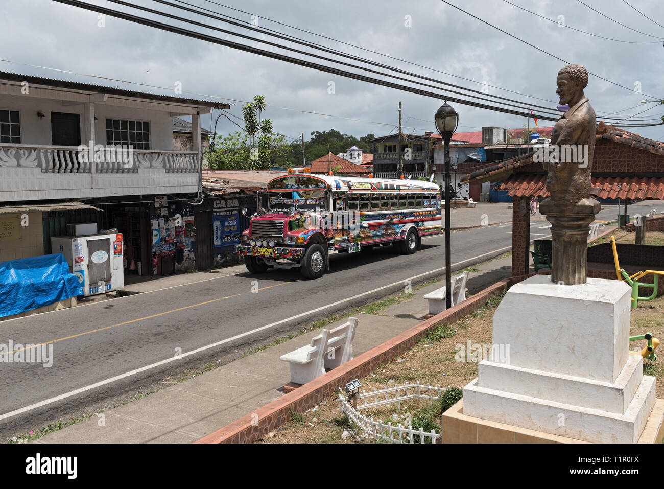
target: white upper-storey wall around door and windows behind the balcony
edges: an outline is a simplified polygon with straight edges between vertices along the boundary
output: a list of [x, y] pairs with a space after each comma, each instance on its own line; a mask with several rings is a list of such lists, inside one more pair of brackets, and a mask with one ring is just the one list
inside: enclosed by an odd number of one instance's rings
[[[60, 100], [0, 94], [0, 110], [18, 110], [21, 117], [21, 144], [52, 144], [50, 113], [64, 112], [80, 116], [81, 143], [85, 141], [84, 104], [63, 105]], [[44, 114], [43, 118], [37, 112]], [[173, 117], [168, 112], [94, 104], [96, 144], [106, 144], [106, 118], [150, 122], [150, 149], [173, 150]]]

